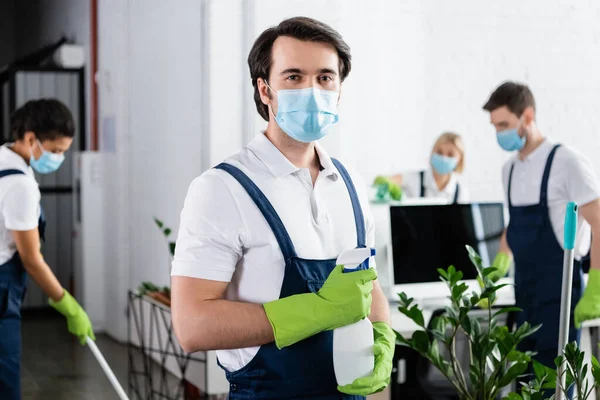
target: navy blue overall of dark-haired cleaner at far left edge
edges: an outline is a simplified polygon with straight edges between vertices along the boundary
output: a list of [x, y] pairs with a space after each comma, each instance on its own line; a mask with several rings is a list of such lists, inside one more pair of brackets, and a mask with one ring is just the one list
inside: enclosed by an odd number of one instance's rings
[[[0, 171], [0, 178], [24, 174], [17, 169]], [[40, 212], [38, 229], [44, 238], [46, 222]], [[0, 265], [0, 399], [21, 398], [21, 303], [25, 297], [27, 273], [19, 253]]]

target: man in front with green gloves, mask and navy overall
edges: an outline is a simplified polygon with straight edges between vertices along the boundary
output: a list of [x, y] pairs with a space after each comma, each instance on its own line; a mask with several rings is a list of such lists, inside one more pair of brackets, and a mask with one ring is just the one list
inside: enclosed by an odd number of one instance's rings
[[[218, 350], [232, 400], [362, 399], [389, 383], [395, 335], [375, 270], [335, 265], [374, 247], [373, 219], [358, 177], [316, 143], [338, 121], [350, 49], [329, 26], [292, 18], [260, 35], [248, 64], [267, 129], [189, 188], [175, 332], [188, 352]], [[366, 316], [374, 371], [338, 387], [332, 330]]]

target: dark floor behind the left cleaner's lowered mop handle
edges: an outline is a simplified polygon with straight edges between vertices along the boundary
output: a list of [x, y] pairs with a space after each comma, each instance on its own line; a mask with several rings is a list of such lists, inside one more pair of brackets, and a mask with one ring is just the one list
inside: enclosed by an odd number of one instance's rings
[[[127, 347], [103, 335], [96, 339], [127, 391]], [[23, 400], [118, 400], [92, 352], [67, 333], [60, 316], [23, 317], [21, 374]], [[381, 393], [369, 400], [388, 398], [389, 395]]]

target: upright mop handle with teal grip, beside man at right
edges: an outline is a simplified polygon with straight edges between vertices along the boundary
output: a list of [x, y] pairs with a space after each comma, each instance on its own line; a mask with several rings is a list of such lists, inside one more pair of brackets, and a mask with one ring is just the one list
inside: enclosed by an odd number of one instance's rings
[[[577, 204], [570, 202], [567, 204], [565, 214], [565, 232], [564, 243], [565, 256], [563, 261], [563, 280], [560, 297], [560, 324], [558, 325], [558, 355], [563, 354], [563, 350], [569, 340], [569, 327], [571, 319], [571, 289], [573, 285], [573, 256], [575, 249], [575, 235], [577, 233]], [[563, 393], [561, 387], [565, 387], [566, 374], [564, 362], [558, 367], [557, 374], [556, 399], [561, 400]]]

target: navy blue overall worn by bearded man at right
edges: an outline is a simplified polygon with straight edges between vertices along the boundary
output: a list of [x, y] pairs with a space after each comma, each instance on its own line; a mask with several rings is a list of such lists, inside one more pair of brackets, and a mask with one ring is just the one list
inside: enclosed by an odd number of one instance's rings
[[[562, 291], [564, 250], [556, 239], [548, 213], [548, 178], [556, 145], [546, 161], [539, 204], [516, 207], [510, 199], [514, 164], [508, 179], [510, 223], [507, 240], [515, 258], [515, 297], [517, 307], [523, 309], [517, 317], [522, 324], [542, 324], [520, 346], [521, 351], [535, 351], [534, 359], [554, 368], [558, 356], [558, 330]], [[571, 295], [569, 342], [579, 343], [580, 331], [575, 329], [573, 313], [582, 293], [581, 263], [575, 261]]]

